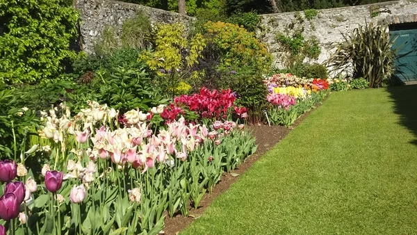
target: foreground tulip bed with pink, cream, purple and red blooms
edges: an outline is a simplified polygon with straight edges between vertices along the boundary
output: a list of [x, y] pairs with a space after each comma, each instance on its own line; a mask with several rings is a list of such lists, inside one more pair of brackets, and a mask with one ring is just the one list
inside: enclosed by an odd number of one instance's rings
[[[197, 114], [224, 117], [234, 109], [230, 91], [210, 92], [230, 99], [221, 111], [197, 108]], [[19, 161], [0, 161], [0, 218], [10, 234], [158, 234], [165, 211], [188, 216], [223, 172], [256, 150], [243, 124], [232, 121], [206, 125], [180, 117], [155, 126], [175, 105], [124, 115], [89, 106], [74, 117], [65, 105], [42, 113], [38, 145]], [[26, 170], [33, 155], [46, 161], [42, 170]]]

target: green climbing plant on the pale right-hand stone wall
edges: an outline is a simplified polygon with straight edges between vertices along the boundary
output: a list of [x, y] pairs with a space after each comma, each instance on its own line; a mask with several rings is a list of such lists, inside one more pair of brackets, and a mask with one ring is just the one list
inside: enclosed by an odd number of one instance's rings
[[277, 42], [283, 51], [283, 61], [286, 68], [302, 65], [305, 59], [316, 60], [320, 55], [320, 45], [316, 38], [304, 38], [304, 26], [299, 13], [295, 13], [294, 19], [284, 33], [277, 34]]

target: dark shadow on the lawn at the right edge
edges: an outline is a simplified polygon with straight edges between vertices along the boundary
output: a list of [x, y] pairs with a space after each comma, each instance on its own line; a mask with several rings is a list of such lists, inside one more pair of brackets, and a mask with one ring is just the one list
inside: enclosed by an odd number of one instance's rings
[[388, 91], [395, 103], [395, 113], [400, 115], [400, 124], [414, 133], [411, 143], [417, 145], [417, 85], [391, 86]]

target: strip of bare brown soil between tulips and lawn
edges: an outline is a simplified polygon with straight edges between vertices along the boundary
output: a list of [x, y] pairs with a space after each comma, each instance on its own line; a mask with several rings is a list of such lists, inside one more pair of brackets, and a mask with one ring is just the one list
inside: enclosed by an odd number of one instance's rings
[[[312, 111], [314, 111], [314, 109], [298, 118], [293, 127], [296, 127], [298, 124], [300, 124], [300, 122], [302, 122], [302, 120], [304, 120], [304, 118], [308, 116]], [[257, 161], [262, 156], [262, 154], [268, 152], [269, 149], [274, 147], [280, 140], [282, 140], [288, 133], [290, 133], [293, 127], [269, 127], [267, 125], [254, 125], [248, 127], [253, 131], [253, 135], [256, 137], [256, 144], [258, 145], [258, 149], [256, 150], [255, 154], [247, 157], [247, 159], [245, 159], [245, 161], [232, 172], [238, 175], [242, 175], [255, 161]], [[190, 225], [190, 223], [193, 222], [195, 218], [201, 216], [202, 213], [204, 213], [204, 211], [207, 209], [207, 206], [211, 204], [211, 202], [213, 202], [213, 200], [215, 200], [218, 195], [227, 191], [231, 184], [234, 184], [234, 182], [237, 180], [238, 177], [233, 177], [230, 175], [230, 173], [224, 173], [221, 181], [213, 188], [213, 192], [204, 195], [202, 201], [199, 204], [199, 208], [190, 210], [189, 217], [184, 217], [181, 214], [174, 216], [174, 218], [167, 216], [165, 219], [165, 227], [161, 234], [179, 234], [179, 232]]]

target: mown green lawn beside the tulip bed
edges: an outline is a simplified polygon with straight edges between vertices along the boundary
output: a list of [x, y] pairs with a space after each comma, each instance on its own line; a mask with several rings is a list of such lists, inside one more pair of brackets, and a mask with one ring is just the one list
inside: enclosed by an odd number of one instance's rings
[[333, 93], [181, 234], [417, 234], [416, 102]]

